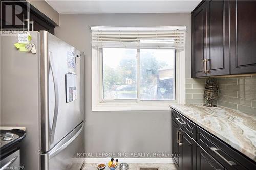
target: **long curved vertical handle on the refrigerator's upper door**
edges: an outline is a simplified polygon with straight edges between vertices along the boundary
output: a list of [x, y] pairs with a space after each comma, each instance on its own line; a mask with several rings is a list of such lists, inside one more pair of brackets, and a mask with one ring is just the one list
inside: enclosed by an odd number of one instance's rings
[[54, 134], [55, 134], [55, 128], [56, 128], [56, 123], [57, 123], [57, 118], [58, 118], [58, 109], [59, 109], [59, 91], [58, 91], [58, 81], [56, 78], [56, 72], [54, 69], [54, 66], [52, 64], [52, 52], [49, 52], [49, 64], [50, 64], [50, 69], [52, 70], [52, 77], [53, 77], [53, 84], [54, 84], [54, 114], [53, 114], [53, 123], [52, 127], [50, 128], [50, 144], [53, 143], [54, 141]]

